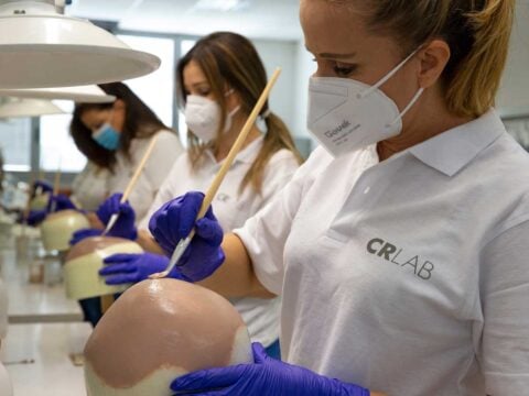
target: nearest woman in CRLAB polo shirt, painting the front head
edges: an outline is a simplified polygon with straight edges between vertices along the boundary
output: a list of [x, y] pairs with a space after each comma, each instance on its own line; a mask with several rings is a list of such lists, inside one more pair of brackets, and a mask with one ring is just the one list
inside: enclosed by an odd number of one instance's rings
[[[192, 244], [180, 263], [228, 296], [281, 293], [289, 364], [256, 345], [256, 364], [191, 373], [173, 392], [527, 394], [529, 158], [493, 109], [514, 10], [301, 1], [324, 147], [222, 246]], [[201, 202], [188, 194], [151, 219], [168, 253]]]

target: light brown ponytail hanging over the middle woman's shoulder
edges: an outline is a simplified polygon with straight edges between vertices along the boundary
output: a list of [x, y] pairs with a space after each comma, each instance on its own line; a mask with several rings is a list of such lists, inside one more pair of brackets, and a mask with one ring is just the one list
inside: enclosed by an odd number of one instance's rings
[[266, 111], [264, 113], [268, 113], [264, 117], [268, 131], [264, 134], [264, 141], [259, 154], [240, 183], [239, 194], [241, 194], [249, 185], [251, 185], [257, 194], [262, 193], [263, 172], [272, 155], [278, 151], [287, 148], [294, 154], [299, 164], [303, 162], [303, 158], [295, 148], [294, 141], [292, 140], [289, 129], [284, 122], [273, 112]]

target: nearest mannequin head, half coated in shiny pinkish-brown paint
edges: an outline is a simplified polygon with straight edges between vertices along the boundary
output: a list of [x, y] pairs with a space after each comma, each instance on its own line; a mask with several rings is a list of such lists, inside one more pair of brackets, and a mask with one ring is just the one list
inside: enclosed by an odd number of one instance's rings
[[175, 279], [144, 280], [107, 311], [85, 348], [89, 396], [171, 395], [185, 373], [252, 362], [237, 310]]

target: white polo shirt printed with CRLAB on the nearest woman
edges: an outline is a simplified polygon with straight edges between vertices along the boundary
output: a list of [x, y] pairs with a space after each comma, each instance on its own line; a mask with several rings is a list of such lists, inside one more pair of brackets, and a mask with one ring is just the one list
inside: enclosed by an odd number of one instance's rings
[[236, 231], [289, 362], [388, 395], [529, 394], [529, 156], [496, 112], [378, 163], [319, 148]]

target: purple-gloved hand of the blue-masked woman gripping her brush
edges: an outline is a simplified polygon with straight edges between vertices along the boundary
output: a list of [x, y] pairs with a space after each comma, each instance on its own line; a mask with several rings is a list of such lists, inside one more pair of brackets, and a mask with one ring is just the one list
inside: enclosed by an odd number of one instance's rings
[[118, 221], [116, 221], [116, 224], [110, 229], [108, 235], [134, 241], [138, 238], [138, 230], [134, 226], [134, 209], [132, 209], [128, 201], [121, 204], [121, 197], [122, 194], [114, 194], [99, 206], [96, 213], [105, 226], [108, 224], [112, 215], [119, 213]]

